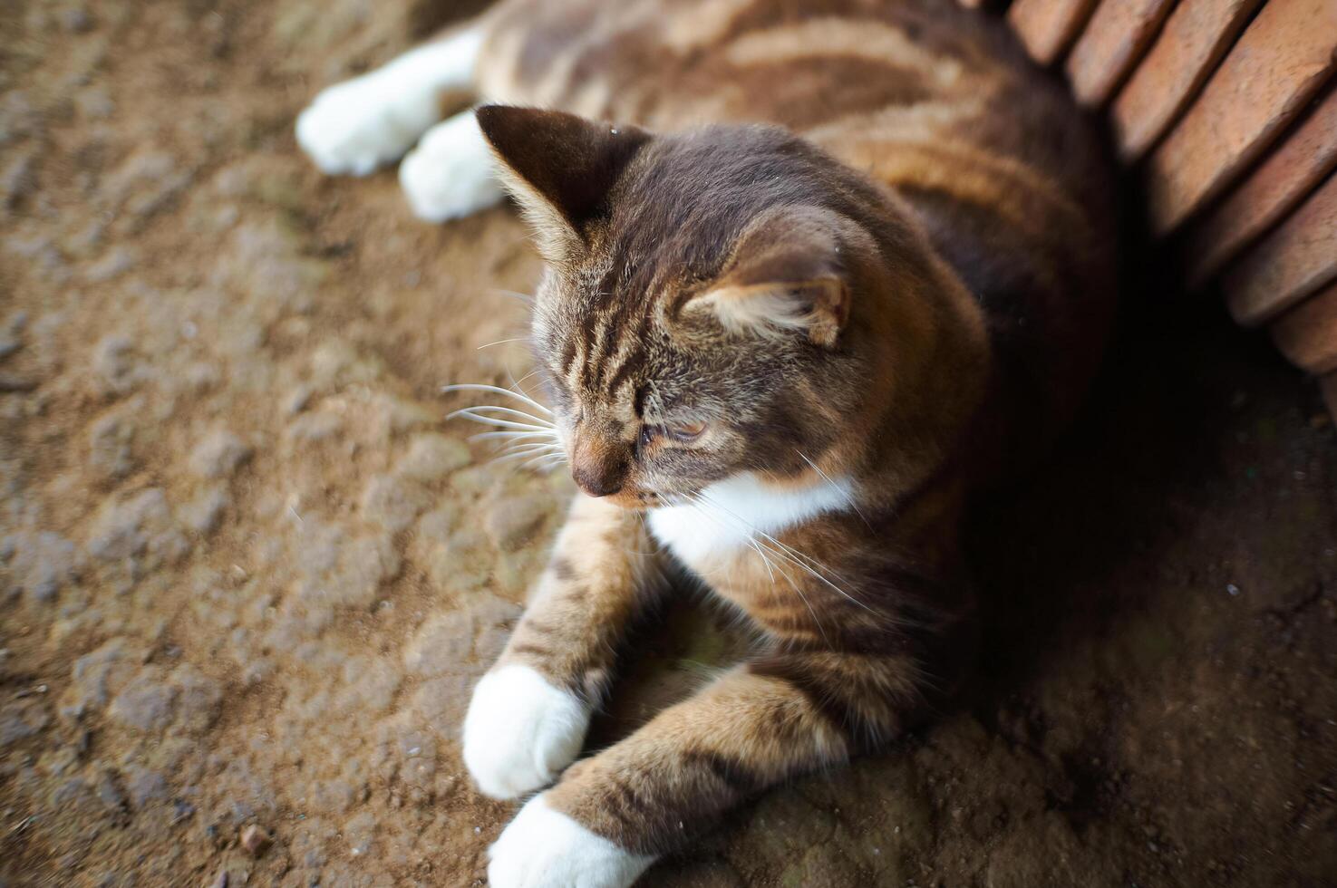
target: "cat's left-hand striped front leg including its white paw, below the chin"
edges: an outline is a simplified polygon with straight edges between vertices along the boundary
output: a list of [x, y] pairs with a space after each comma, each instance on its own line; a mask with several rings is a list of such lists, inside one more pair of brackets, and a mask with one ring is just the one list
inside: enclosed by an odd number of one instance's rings
[[660, 588], [638, 516], [578, 493], [528, 610], [473, 691], [464, 764], [513, 798], [551, 784], [580, 752], [627, 626]]

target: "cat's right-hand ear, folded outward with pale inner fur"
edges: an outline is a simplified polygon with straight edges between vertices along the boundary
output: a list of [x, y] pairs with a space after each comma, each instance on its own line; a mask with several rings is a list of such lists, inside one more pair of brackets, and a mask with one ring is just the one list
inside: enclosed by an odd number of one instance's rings
[[738, 238], [725, 273], [685, 310], [710, 312], [731, 333], [801, 333], [833, 348], [849, 320], [842, 222], [814, 207], [758, 218]]

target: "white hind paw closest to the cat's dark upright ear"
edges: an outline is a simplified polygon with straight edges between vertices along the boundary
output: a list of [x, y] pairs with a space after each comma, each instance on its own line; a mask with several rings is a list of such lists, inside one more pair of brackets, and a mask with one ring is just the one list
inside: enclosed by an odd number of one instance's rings
[[459, 219], [504, 197], [472, 111], [428, 130], [400, 164], [400, 185], [413, 214], [428, 222]]

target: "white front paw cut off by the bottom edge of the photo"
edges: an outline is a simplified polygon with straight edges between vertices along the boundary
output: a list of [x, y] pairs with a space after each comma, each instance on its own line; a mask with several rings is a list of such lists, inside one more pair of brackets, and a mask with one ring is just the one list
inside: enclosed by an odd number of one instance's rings
[[535, 796], [488, 849], [492, 888], [626, 888], [654, 857], [596, 836]]

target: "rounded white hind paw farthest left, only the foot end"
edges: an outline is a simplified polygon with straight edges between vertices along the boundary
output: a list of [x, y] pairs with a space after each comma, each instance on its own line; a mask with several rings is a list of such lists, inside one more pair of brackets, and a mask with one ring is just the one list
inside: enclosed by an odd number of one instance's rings
[[441, 119], [439, 91], [405, 67], [337, 83], [297, 116], [297, 143], [324, 173], [366, 175]]

